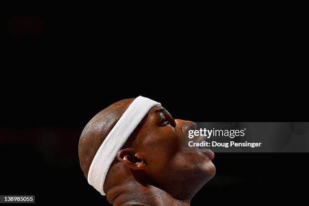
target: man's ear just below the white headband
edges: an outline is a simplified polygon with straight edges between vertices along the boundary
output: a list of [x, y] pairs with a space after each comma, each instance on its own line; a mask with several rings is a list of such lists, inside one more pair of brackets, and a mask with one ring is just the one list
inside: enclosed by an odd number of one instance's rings
[[137, 155], [134, 153], [133, 149], [121, 149], [118, 151], [117, 159], [125, 166], [133, 170], [143, 170], [145, 169], [145, 163], [138, 159]]

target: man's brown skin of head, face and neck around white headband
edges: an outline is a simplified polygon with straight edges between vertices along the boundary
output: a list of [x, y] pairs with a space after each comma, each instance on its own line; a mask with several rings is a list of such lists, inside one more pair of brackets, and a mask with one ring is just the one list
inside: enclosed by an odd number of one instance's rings
[[[85, 127], [79, 142], [85, 177], [98, 147], [133, 100], [116, 102]], [[104, 183], [108, 201], [117, 206], [190, 205], [216, 172], [207, 153], [182, 152], [182, 135], [193, 127], [193, 122], [174, 120], [163, 107], [153, 107], [110, 167]]]

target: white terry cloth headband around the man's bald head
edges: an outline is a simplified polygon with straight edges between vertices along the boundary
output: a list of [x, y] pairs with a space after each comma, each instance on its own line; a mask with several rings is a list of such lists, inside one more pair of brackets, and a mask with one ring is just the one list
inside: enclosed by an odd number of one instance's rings
[[143, 96], [135, 98], [97, 150], [87, 179], [101, 195], [105, 195], [103, 191], [105, 177], [118, 151], [149, 110], [156, 105], [161, 104]]

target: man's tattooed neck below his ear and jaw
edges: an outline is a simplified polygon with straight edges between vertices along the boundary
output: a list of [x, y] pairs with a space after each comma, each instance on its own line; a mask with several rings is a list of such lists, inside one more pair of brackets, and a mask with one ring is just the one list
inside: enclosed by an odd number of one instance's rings
[[[153, 205], [153, 206], [189, 206], [191, 199], [177, 199], [166, 191], [144, 184], [140, 180], [134, 178], [131, 171], [122, 164], [115, 169], [122, 171], [122, 174], [117, 174], [120, 178], [115, 178], [116, 184], [105, 184], [107, 198], [110, 203], [115, 206], [130, 206], [130, 205]], [[125, 178], [124, 178], [125, 177]], [[114, 178], [113, 178], [114, 179]], [[114, 179], [114, 180], [115, 180]], [[109, 181], [108, 181], [109, 182]]]

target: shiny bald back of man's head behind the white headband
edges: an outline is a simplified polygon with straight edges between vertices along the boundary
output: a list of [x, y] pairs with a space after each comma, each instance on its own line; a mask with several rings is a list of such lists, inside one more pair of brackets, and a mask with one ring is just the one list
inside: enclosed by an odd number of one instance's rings
[[[133, 100], [134, 98], [129, 98], [116, 102], [95, 115], [85, 126], [79, 139], [78, 156], [80, 167], [86, 178], [88, 177], [91, 162], [98, 148]], [[124, 146], [129, 146], [129, 142], [131, 142], [130, 138]], [[117, 162], [117, 159], [115, 161]], [[115, 161], [112, 165], [115, 164]]]

